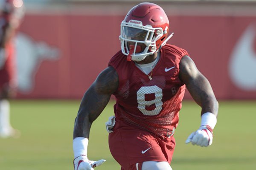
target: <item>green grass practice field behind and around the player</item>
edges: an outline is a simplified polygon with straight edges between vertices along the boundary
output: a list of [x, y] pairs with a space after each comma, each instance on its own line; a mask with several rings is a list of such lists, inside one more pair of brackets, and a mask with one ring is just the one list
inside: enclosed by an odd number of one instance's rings
[[[14, 100], [12, 125], [19, 139], [0, 139], [0, 170], [72, 170], [73, 122], [78, 100]], [[113, 114], [113, 102], [93, 123], [89, 159], [106, 159], [96, 170], [120, 170], [108, 149], [105, 122]], [[220, 102], [212, 146], [185, 144], [200, 125], [200, 107], [183, 102], [175, 130], [173, 170], [255, 170], [256, 101]]]

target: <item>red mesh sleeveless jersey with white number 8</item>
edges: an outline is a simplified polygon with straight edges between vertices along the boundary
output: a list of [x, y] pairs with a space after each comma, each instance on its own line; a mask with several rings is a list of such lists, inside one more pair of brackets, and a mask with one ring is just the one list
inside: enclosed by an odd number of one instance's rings
[[146, 130], [157, 136], [169, 137], [177, 127], [185, 85], [179, 78], [180, 59], [189, 55], [175, 45], [166, 44], [153, 68], [151, 77], [134, 62], [128, 62], [121, 51], [109, 62], [119, 76], [114, 112], [116, 122]]

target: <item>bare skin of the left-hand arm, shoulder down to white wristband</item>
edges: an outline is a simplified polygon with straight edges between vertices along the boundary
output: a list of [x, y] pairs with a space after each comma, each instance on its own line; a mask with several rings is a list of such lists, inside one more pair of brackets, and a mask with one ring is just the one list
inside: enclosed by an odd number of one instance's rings
[[89, 138], [93, 121], [102, 113], [118, 88], [118, 75], [113, 67], [103, 70], [85, 92], [75, 120], [73, 138]]

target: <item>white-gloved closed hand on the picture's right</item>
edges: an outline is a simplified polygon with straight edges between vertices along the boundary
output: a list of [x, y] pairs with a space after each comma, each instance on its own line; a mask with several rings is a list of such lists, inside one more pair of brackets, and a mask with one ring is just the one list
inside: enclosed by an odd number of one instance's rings
[[188, 139], [186, 139], [186, 144], [191, 142], [193, 145], [196, 144], [201, 147], [207, 147], [212, 144], [212, 138], [212, 128], [208, 125], [204, 125], [189, 135]]

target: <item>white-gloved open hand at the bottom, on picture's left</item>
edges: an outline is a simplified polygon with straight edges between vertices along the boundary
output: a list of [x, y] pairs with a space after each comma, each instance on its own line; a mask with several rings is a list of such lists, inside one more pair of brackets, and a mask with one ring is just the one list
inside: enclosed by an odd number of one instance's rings
[[74, 159], [74, 170], [94, 170], [94, 167], [102, 165], [106, 160], [90, 161], [87, 156], [81, 155]]

